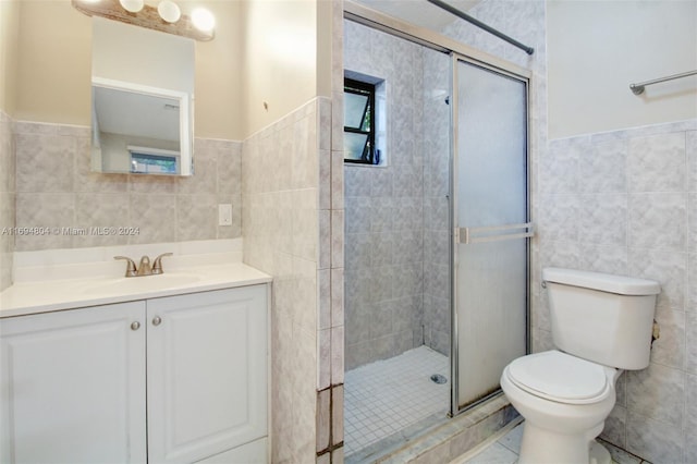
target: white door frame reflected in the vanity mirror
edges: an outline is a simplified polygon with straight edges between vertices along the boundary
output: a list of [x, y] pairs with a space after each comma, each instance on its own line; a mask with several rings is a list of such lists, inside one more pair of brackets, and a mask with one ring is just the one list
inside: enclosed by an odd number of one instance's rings
[[[134, 94], [142, 94], [152, 97], [162, 97], [169, 98], [172, 100], [178, 100], [180, 105], [180, 118], [179, 118], [179, 133], [180, 133], [180, 170], [176, 174], [159, 174], [159, 175], [170, 175], [170, 176], [189, 176], [194, 174], [193, 169], [193, 112], [191, 110], [191, 96], [185, 91], [172, 90], [167, 88], [151, 87], [142, 84], [135, 84], [132, 82], [123, 82], [117, 80], [110, 80], [105, 77], [93, 76], [91, 78], [91, 87], [101, 87], [101, 88], [110, 88], [114, 90], [124, 90]], [[96, 109], [94, 101], [94, 91], [93, 91], [93, 124], [91, 124], [91, 137], [93, 137], [93, 149], [95, 139], [97, 137], [96, 131], [97, 124], [95, 124]], [[101, 169], [94, 169], [94, 171], [102, 172]], [[123, 172], [132, 173], [132, 172]], [[134, 173], [137, 174], [137, 173]], [[156, 174], [156, 173], [149, 173]]]

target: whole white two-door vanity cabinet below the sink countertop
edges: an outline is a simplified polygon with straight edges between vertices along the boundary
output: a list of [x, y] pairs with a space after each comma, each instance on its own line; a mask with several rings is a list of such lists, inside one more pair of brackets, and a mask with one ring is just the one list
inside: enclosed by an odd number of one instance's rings
[[267, 292], [0, 319], [0, 462], [266, 463]]

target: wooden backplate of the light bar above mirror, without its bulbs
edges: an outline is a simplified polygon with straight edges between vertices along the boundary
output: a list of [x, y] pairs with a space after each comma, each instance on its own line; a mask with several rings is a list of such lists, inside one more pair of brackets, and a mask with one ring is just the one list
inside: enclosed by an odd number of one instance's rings
[[146, 27], [167, 34], [174, 34], [182, 37], [188, 37], [194, 40], [208, 41], [215, 37], [213, 30], [199, 30], [192, 24], [188, 15], [182, 14], [176, 23], [168, 23], [160, 17], [157, 8], [148, 4], [137, 13], [130, 13], [124, 10], [119, 0], [101, 0], [99, 2], [90, 2], [89, 0], [72, 0], [73, 7], [88, 16], [100, 16], [108, 20], [120, 21], [134, 26]]

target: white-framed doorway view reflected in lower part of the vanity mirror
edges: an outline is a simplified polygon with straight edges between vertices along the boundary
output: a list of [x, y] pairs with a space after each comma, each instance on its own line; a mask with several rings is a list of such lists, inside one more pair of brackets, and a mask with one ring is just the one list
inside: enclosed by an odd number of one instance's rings
[[93, 170], [181, 175], [186, 94], [93, 80]]

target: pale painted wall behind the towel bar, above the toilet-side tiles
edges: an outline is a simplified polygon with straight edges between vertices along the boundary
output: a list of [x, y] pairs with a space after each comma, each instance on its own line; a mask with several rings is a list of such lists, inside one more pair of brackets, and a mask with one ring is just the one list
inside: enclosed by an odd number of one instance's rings
[[548, 0], [549, 136], [697, 118], [697, 2]]

